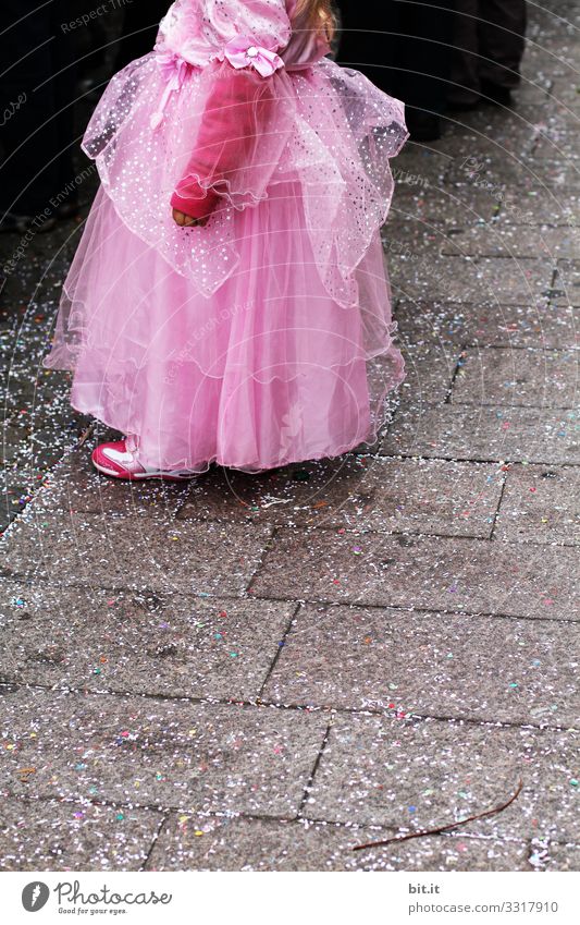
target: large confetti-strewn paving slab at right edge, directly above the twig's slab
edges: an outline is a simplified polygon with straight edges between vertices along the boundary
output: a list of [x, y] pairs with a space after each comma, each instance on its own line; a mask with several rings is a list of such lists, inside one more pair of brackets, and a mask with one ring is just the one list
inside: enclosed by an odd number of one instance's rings
[[310, 605], [263, 696], [397, 717], [580, 725], [577, 635], [553, 620]]

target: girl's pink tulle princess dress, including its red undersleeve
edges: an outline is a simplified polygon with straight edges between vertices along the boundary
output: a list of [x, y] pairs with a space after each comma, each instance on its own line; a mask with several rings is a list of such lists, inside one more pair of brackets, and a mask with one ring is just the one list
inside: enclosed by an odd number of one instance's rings
[[177, 0], [86, 131], [101, 186], [45, 364], [146, 466], [336, 457], [404, 375], [380, 240], [403, 106], [296, 5]]

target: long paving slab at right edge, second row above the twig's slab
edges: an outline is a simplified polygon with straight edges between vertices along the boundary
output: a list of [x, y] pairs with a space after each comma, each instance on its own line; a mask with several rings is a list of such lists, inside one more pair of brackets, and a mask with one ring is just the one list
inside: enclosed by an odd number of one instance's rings
[[[578, 614], [567, 547], [347, 531], [276, 534], [251, 593], [260, 597], [570, 620]], [[292, 570], [285, 563], [292, 562]]]

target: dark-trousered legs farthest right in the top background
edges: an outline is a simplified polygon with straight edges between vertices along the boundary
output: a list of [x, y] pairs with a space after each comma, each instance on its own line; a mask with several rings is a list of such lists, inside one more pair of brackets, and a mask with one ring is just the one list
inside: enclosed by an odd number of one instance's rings
[[510, 106], [520, 81], [526, 0], [456, 0], [449, 106]]

